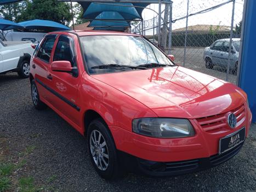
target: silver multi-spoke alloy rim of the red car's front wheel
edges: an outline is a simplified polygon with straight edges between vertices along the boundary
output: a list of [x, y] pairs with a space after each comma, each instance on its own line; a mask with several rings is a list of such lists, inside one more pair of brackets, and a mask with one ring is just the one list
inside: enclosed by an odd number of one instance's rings
[[90, 153], [99, 170], [105, 171], [109, 167], [109, 149], [105, 138], [98, 130], [90, 133]]

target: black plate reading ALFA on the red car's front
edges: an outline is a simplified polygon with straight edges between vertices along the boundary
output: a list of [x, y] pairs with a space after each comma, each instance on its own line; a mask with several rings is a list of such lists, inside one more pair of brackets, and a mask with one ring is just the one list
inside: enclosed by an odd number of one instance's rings
[[236, 147], [238, 144], [244, 142], [246, 138], [246, 127], [227, 135], [226, 137], [220, 138], [219, 141], [219, 154], [227, 152], [228, 150]]

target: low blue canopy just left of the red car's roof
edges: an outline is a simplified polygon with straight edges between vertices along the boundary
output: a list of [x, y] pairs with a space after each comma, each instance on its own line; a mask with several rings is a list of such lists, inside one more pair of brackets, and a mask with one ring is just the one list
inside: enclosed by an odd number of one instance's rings
[[26, 30], [44, 30], [44, 31], [66, 31], [70, 30], [69, 27], [59, 24], [58, 22], [48, 20], [31, 20], [19, 22]]

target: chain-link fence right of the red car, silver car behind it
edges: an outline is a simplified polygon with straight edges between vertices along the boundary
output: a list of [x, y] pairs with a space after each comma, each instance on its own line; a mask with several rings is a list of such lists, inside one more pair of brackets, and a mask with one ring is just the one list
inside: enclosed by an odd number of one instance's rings
[[[163, 5], [162, 7], [164, 10]], [[173, 2], [171, 10], [168, 18], [164, 17], [164, 11], [161, 14], [161, 43], [157, 35], [157, 16], [143, 21], [143, 25], [139, 23], [132, 32], [144, 34], [156, 44], [160, 44], [158, 46], [166, 53], [174, 55], [180, 66], [235, 84], [243, 1], [177, 0]], [[166, 24], [163, 23], [164, 19]], [[172, 22], [169, 22], [170, 20]], [[166, 42], [164, 36], [167, 37]]]

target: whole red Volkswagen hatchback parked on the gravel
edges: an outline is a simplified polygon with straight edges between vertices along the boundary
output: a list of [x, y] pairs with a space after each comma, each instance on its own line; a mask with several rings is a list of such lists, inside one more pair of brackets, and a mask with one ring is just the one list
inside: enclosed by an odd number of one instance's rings
[[169, 57], [136, 34], [49, 33], [31, 59], [33, 104], [49, 106], [87, 138], [107, 179], [132, 162], [170, 176], [229, 160], [248, 136], [246, 94]]

